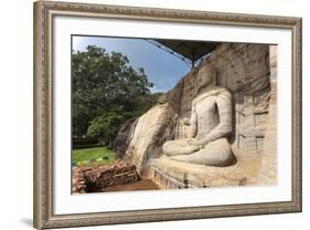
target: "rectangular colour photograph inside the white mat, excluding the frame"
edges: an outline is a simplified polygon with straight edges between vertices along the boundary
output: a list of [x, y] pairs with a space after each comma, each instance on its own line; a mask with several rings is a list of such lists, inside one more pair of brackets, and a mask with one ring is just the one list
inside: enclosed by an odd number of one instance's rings
[[72, 194], [277, 185], [276, 44], [71, 43]]

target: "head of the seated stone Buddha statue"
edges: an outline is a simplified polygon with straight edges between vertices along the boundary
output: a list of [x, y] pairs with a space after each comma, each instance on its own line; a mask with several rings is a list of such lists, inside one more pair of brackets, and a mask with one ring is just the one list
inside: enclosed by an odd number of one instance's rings
[[200, 88], [216, 85], [216, 71], [209, 65], [202, 66], [196, 75], [196, 84]]

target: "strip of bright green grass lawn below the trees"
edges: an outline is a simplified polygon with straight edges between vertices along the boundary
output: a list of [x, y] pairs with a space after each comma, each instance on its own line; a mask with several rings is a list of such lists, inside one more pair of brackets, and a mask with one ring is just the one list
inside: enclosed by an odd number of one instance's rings
[[78, 163], [86, 159], [96, 160], [103, 158], [103, 164], [116, 160], [115, 153], [107, 147], [74, 149], [72, 153], [72, 163]]

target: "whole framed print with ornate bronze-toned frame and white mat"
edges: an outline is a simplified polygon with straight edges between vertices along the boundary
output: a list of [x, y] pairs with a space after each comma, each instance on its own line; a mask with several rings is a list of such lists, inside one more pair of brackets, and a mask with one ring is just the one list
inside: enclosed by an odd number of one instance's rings
[[301, 211], [301, 19], [34, 3], [34, 227]]

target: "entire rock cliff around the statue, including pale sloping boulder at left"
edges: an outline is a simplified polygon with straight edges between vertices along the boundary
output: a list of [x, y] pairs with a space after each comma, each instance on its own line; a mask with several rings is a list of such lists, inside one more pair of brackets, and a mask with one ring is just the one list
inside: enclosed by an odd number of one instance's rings
[[[270, 82], [272, 88], [276, 87], [276, 77], [270, 80], [269, 45], [223, 43], [200, 66], [183, 76], [173, 90], [162, 95], [157, 106], [127, 126], [126, 145], [119, 156], [124, 154], [124, 159], [141, 172], [150, 159], [162, 155], [165, 140], [184, 138], [188, 126], [183, 121], [190, 117], [192, 101], [200, 87], [196, 74], [200, 70], [211, 69], [216, 72], [215, 84], [233, 95], [232, 147], [247, 156], [267, 153], [264, 148], [268, 145], [264, 140], [270, 124]], [[272, 100], [276, 104], [275, 96]], [[272, 139], [269, 145], [275, 146], [276, 139]]]

